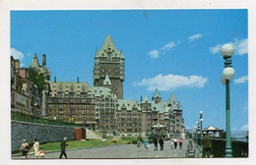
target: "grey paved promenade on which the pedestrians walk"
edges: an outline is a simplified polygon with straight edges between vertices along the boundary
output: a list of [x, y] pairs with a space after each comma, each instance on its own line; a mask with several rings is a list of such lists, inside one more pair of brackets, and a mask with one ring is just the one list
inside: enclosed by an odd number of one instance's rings
[[[183, 146], [180, 149], [171, 149], [170, 141], [164, 141], [164, 150], [154, 151], [154, 145], [150, 144], [149, 151], [142, 147], [142, 151], [139, 151], [136, 144], [121, 144], [121, 145], [112, 145], [104, 147], [95, 147], [95, 148], [83, 148], [83, 149], [68, 149], [67, 155], [68, 158], [178, 158], [185, 157], [185, 152], [187, 148], [187, 139], [183, 140]], [[197, 150], [198, 153], [198, 150]], [[59, 157], [59, 152], [50, 152], [45, 153], [45, 159], [56, 159]], [[197, 154], [196, 154], [197, 156]], [[21, 158], [21, 157], [13, 157]], [[29, 156], [29, 158], [34, 158]], [[63, 156], [64, 158], [64, 156]]]

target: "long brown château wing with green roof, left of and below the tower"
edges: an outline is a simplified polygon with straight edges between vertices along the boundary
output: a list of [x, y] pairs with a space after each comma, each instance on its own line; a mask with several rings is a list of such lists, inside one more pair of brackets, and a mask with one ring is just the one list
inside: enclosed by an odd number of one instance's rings
[[102, 86], [77, 82], [50, 83], [49, 118], [74, 122], [87, 128], [115, 134], [116, 96]]

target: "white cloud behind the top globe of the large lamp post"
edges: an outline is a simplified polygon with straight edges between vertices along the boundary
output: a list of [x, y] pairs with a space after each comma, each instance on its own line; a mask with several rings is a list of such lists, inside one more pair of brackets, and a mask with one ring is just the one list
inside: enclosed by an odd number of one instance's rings
[[[234, 55], [244, 55], [248, 53], [248, 39], [237, 39], [234, 38], [233, 41], [228, 42], [234, 46]], [[214, 47], [210, 47], [210, 51], [213, 54], [220, 53], [221, 47], [224, 45], [224, 43], [217, 44]]]

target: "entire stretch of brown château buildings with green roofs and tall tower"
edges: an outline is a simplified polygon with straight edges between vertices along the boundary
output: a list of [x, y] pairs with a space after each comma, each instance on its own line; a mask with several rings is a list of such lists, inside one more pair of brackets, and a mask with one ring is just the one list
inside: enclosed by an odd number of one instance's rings
[[[182, 108], [174, 93], [168, 100], [161, 98], [158, 88], [151, 99], [123, 99], [124, 56], [107, 35], [100, 50], [96, 49], [94, 86], [79, 82], [50, 82], [46, 55], [39, 65], [36, 54], [32, 68], [46, 76], [42, 93], [33, 90], [28, 69], [20, 68], [19, 60], [12, 58], [12, 110], [46, 116], [63, 122], [72, 122], [108, 135], [138, 136], [156, 132], [162, 125], [163, 134], [181, 134], [184, 129]], [[35, 98], [35, 99], [34, 99]], [[37, 103], [36, 105], [34, 103]]]

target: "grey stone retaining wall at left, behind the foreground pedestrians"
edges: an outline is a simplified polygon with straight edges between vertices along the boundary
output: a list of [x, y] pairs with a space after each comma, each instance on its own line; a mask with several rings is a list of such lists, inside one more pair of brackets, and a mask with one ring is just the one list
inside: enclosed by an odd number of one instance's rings
[[75, 139], [74, 127], [35, 124], [20, 121], [11, 122], [12, 151], [20, 148], [24, 138], [27, 139], [28, 143], [32, 143], [33, 138], [37, 138], [40, 143], [60, 141], [64, 137], [67, 137], [68, 140]]

